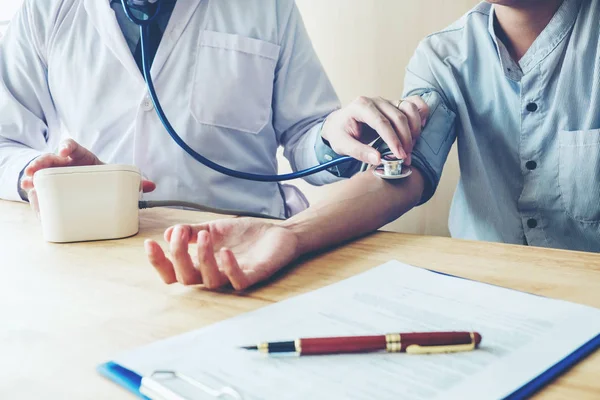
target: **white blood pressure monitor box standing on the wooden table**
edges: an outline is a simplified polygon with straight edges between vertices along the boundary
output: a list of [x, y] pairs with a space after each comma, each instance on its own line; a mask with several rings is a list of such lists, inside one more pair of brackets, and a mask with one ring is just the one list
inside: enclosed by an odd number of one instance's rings
[[34, 186], [44, 239], [120, 239], [139, 230], [140, 171], [130, 165], [47, 168]]

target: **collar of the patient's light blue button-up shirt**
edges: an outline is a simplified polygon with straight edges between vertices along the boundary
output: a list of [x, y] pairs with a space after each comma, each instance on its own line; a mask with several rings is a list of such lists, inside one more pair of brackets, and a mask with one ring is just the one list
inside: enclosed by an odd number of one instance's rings
[[[527, 50], [527, 53], [525, 53], [518, 63], [512, 60], [506, 47], [504, 47], [503, 43], [498, 40], [496, 36], [496, 31], [494, 29], [496, 14], [494, 12], [494, 7], [492, 7], [488, 21], [488, 31], [496, 44], [500, 62], [503, 64], [503, 69], [505, 73], [507, 73], [507, 76], [514, 80], [520, 80], [523, 74], [531, 71], [546, 58], [548, 54], [552, 53], [575, 24], [580, 6], [581, 0], [564, 0], [548, 23], [548, 26], [546, 26], [542, 33], [537, 37], [529, 50]], [[513, 68], [511, 68], [510, 64], [512, 64]], [[518, 71], [511, 74], [511, 71], [514, 68]], [[508, 71], [508, 69], [511, 69], [511, 71]]]

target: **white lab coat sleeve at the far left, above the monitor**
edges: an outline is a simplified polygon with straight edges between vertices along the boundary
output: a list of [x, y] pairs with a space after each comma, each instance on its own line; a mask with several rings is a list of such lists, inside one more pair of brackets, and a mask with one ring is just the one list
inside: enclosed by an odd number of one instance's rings
[[23, 200], [21, 172], [47, 151], [57, 121], [43, 57], [45, 3], [26, 0], [0, 40], [0, 198], [6, 200]]

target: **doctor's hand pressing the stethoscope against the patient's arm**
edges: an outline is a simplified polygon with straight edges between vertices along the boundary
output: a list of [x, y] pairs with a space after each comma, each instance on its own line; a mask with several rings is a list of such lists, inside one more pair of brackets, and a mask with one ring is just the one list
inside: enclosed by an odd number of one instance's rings
[[329, 115], [321, 136], [337, 154], [371, 165], [379, 165], [381, 155], [368, 143], [380, 136], [397, 158], [410, 165], [413, 144], [427, 122], [429, 107], [420, 96], [396, 104], [361, 96]]

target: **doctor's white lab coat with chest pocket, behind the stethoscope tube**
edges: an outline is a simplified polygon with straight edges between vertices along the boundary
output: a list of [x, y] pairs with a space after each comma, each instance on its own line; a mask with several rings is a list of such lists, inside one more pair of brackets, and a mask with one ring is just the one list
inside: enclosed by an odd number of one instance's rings
[[[294, 169], [318, 164], [339, 108], [292, 0], [179, 0], [151, 73], [179, 135], [247, 172], [276, 173], [280, 145]], [[286, 215], [281, 185], [209, 170], [170, 138], [109, 0], [26, 0], [0, 42], [0, 198], [19, 200], [19, 172], [66, 136], [137, 165], [157, 184], [147, 200]]]

